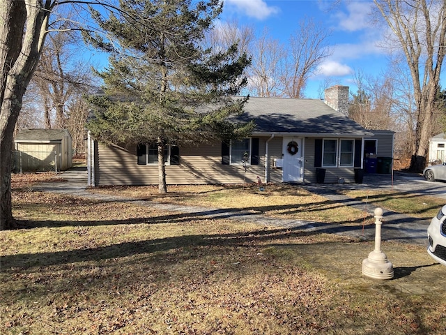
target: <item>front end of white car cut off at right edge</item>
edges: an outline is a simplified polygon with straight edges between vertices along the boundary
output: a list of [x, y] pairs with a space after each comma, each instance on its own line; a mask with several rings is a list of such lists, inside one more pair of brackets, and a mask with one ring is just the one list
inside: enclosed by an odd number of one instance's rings
[[429, 246], [427, 253], [439, 262], [446, 266], [446, 204], [441, 207], [438, 214], [431, 220], [431, 224], [427, 228], [427, 238], [429, 239]]

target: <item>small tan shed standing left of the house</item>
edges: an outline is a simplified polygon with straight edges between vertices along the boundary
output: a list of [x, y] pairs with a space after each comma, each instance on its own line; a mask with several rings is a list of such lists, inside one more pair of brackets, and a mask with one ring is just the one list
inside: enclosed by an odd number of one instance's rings
[[71, 135], [66, 129], [24, 129], [14, 140], [15, 172], [63, 171], [72, 167]]

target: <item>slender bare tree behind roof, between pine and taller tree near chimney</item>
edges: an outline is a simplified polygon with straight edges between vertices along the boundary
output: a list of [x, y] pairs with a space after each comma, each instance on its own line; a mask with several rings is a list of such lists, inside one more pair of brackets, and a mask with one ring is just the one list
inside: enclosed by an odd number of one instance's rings
[[279, 66], [284, 48], [279, 40], [268, 37], [268, 30], [253, 43], [252, 64], [249, 67], [248, 89], [256, 96], [277, 96], [279, 92]]

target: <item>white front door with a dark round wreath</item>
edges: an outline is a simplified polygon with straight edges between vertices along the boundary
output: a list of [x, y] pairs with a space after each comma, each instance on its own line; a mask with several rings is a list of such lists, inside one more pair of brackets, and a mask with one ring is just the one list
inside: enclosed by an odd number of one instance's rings
[[302, 139], [284, 137], [282, 152], [284, 153], [282, 181], [302, 181]]

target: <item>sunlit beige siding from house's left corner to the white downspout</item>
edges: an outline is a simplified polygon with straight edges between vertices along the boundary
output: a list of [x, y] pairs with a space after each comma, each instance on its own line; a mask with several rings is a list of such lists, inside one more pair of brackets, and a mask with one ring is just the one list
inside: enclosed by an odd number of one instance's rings
[[[220, 143], [199, 147], [180, 147], [180, 165], [166, 165], [166, 182], [177, 184], [240, 184], [256, 183], [263, 179], [265, 140], [259, 143], [259, 165], [222, 165]], [[96, 185], [155, 185], [158, 184], [158, 165], [137, 165], [136, 146], [123, 148], [98, 145]]]

